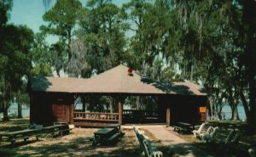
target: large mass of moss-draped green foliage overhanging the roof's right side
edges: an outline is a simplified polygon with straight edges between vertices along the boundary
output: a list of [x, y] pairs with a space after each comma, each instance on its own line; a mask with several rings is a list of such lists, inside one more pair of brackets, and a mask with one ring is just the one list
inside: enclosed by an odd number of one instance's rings
[[128, 64], [162, 81], [175, 80], [172, 76], [177, 74], [172, 72], [178, 70], [178, 80], [202, 82], [215, 102], [229, 102], [236, 119], [239, 99], [256, 95], [255, 86], [247, 95], [247, 78], [255, 82], [255, 41], [244, 38], [245, 31], [248, 36], [255, 32], [254, 5], [253, 1], [205, 0], [125, 3], [123, 16], [136, 33], [129, 42]]

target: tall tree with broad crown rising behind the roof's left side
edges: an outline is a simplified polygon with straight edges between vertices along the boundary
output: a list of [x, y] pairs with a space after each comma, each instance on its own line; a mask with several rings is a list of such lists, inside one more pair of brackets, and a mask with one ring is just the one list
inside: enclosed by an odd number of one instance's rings
[[67, 72], [70, 71], [67, 69], [67, 63], [72, 58], [73, 31], [79, 17], [81, 17], [81, 9], [82, 4], [79, 0], [58, 0], [55, 6], [43, 16], [44, 21], [48, 22], [49, 25], [42, 25], [40, 30], [49, 35], [59, 36], [59, 42], [52, 45], [52, 50], [55, 51], [57, 56], [55, 69], [58, 75], [62, 68]]

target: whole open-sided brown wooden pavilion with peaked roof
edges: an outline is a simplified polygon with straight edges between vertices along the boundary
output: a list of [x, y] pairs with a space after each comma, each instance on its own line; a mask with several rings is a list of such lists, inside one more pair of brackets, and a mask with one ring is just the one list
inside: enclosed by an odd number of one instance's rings
[[[207, 95], [203, 87], [193, 82], [154, 81], [122, 64], [90, 79], [31, 76], [27, 88], [30, 121], [45, 126], [54, 122], [75, 126], [124, 124], [125, 117], [138, 115], [156, 117], [167, 125], [177, 121], [196, 123], [207, 118]], [[74, 102], [79, 94], [113, 96], [118, 99], [118, 112], [76, 111]], [[125, 97], [131, 95], [157, 97], [158, 109], [123, 109]]]

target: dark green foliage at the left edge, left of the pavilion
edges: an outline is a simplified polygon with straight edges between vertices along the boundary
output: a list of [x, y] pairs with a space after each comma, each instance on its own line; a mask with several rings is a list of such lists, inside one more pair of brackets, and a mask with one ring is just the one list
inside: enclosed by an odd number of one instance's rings
[[1, 42], [1, 76], [2, 81], [9, 83], [12, 90], [17, 90], [21, 77], [29, 73], [31, 68], [29, 51], [32, 47], [33, 32], [26, 26], [7, 25], [3, 28]]

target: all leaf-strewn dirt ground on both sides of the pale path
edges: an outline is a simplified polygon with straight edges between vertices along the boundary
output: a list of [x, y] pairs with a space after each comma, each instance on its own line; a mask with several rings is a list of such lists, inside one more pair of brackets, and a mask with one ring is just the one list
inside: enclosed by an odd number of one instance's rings
[[[0, 133], [12, 132], [26, 129], [28, 126], [28, 120], [12, 120], [8, 122], [0, 121]], [[194, 153], [195, 156], [241, 156], [245, 157], [245, 152], [233, 152], [234, 154], [220, 153], [217, 149], [207, 147], [205, 143], [194, 138], [192, 135], [182, 135], [177, 132], [173, 132], [172, 129], [166, 130], [170, 133], [183, 138], [188, 144], [177, 145], [176, 148], [163, 145], [159, 139], [154, 137], [154, 134], [148, 132], [147, 129], [142, 129], [145, 134], [156, 144], [157, 148], [163, 152], [164, 156], [181, 156], [177, 154], [176, 150], [183, 150], [184, 147], [195, 147], [198, 151]], [[130, 128], [123, 129], [125, 136], [119, 139], [119, 142], [111, 146], [91, 146], [90, 137], [93, 136], [93, 132], [96, 132], [96, 128], [74, 128], [69, 135], [63, 137], [43, 137], [39, 141], [36, 141], [35, 137], [30, 138], [29, 142], [18, 141], [15, 144], [2, 143], [0, 146], [0, 157], [5, 156], [91, 156], [91, 157], [141, 157], [142, 150], [135, 133]], [[244, 138], [244, 137], [243, 137]], [[249, 138], [249, 137], [247, 137]], [[252, 140], [252, 136], [250, 137]], [[255, 137], [253, 137], [253, 141]], [[174, 151], [175, 150], [175, 151]], [[175, 153], [174, 153], [175, 152]], [[207, 155], [201, 155], [201, 152], [206, 152]], [[187, 153], [186, 153], [187, 154]], [[211, 155], [209, 155], [211, 154]], [[183, 155], [182, 155], [183, 156]]]

